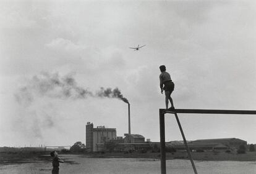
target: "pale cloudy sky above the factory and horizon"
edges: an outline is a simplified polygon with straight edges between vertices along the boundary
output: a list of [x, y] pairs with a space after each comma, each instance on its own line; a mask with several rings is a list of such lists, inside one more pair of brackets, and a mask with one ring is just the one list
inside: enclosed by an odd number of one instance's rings
[[[0, 1], [0, 146], [85, 143], [87, 122], [124, 136], [127, 103], [101, 87], [129, 100], [131, 133], [160, 141], [160, 65], [176, 108], [256, 110], [255, 16], [255, 1]], [[252, 115], [179, 119], [187, 140], [256, 143]]]

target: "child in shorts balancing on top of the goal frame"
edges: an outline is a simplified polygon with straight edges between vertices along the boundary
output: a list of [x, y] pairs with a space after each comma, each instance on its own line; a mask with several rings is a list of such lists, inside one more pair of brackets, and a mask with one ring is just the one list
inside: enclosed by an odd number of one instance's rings
[[[169, 109], [174, 109], [174, 105], [173, 105], [173, 99], [171, 98], [171, 93], [174, 90], [174, 83], [171, 80], [171, 76], [169, 73], [166, 72], [166, 67], [164, 65], [161, 65], [160, 67], [160, 89], [161, 89], [161, 93], [165, 93], [165, 105], [166, 105], [166, 109], [168, 109], [168, 100], [171, 103], [171, 108]], [[163, 86], [164, 85], [164, 86]]]

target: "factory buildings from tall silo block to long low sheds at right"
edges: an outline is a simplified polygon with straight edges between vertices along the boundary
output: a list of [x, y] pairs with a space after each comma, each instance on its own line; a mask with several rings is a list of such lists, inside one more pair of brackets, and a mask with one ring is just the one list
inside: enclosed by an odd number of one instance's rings
[[[93, 127], [93, 123], [87, 122], [85, 126], [86, 148], [89, 152], [105, 151], [106, 147], [112, 145], [113, 151], [137, 151], [151, 150], [159, 148], [160, 142], [151, 142], [150, 139], [145, 141], [145, 137], [139, 134], [124, 133], [124, 137], [116, 135], [115, 128], [106, 128], [105, 126]], [[191, 151], [202, 150], [227, 150], [238, 149], [239, 146], [247, 146], [247, 141], [239, 138], [216, 138], [189, 141], [188, 146]], [[176, 150], [185, 150], [183, 141], [166, 142], [166, 148], [174, 148]]]

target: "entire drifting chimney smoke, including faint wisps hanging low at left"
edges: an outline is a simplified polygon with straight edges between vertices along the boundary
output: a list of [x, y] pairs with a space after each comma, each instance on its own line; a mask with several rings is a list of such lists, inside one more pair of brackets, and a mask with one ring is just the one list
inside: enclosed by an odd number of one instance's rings
[[23, 85], [14, 94], [19, 112], [14, 119], [16, 126], [13, 129], [19, 130], [23, 135], [43, 140], [46, 130], [58, 127], [61, 125], [59, 122], [65, 119], [56, 109], [61, 103], [65, 104], [65, 101], [91, 97], [117, 98], [129, 103], [118, 88], [101, 87], [92, 92], [80, 87], [73, 76], [74, 74], [60, 76], [58, 73], [41, 73], [23, 81]]

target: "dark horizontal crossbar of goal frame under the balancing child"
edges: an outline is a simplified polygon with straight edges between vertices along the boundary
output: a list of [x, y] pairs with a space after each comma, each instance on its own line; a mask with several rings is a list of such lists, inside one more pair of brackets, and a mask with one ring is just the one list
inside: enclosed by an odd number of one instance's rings
[[256, 114], [256, 111], [248, 110], [220, 110], [220, 109], [160, 109], [162, 113], [186, 113], [186, 114]]

